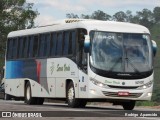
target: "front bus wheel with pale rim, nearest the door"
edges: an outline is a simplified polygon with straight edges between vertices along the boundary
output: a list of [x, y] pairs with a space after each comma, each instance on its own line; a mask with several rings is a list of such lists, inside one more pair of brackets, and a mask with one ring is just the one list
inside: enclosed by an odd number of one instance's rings
[[80, 105], [80, 101], [78, 99], [75, 99], [75, 90], [73, 82], [70, 82], [67, 87], [67, 102], [68, 106], [72, 108], [79, 107]]

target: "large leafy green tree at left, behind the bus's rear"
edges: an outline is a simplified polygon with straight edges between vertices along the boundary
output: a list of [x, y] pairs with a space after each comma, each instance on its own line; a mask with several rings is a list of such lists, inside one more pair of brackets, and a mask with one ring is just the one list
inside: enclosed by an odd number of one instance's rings
[[[0, 54], [4, 54], [7, 34], [14, 30], [31, 28], [38, 12], [26, 0], [0, 1]], [[3, 55], [4, 56], [4, 55]], [[4, 58], [3, 58], [4, 59]]]

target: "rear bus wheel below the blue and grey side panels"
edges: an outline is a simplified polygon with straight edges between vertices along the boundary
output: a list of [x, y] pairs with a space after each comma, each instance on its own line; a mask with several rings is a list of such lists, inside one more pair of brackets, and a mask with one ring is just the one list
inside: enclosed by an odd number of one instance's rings
[[32, 97], [30, 82], [27, 82], [25, 87], [25, 103], [33, 105], [36, 103], [35, 98]]

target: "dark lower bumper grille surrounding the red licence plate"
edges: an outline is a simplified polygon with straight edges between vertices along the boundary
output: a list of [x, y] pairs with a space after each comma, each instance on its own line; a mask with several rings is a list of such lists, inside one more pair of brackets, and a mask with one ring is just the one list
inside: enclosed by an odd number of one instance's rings
[[128, 96], [118, 96], [117, 92], [107, 92], [107, 91], [102, 91], [105, 96], [109, 97], [125, 97], [125, 98], [138, 98], [140, 97], [143, 93], [129, 93]]

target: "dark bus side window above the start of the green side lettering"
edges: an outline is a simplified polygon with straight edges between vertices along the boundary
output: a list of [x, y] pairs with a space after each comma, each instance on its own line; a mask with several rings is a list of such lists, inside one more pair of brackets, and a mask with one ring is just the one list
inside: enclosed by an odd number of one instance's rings
[[57, 34], [58, 39], [57, 39], [57, 48], [56, 48], [56, 56], [61, 56], [62, 55], [62, 32]]

